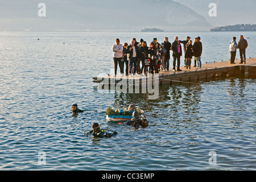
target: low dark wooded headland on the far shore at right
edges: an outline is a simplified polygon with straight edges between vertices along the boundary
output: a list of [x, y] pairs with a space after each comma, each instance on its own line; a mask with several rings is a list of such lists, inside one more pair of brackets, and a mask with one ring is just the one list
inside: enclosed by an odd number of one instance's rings
[[256, 31], [256, 24], [236, 24], [222, 27], [215, 27], [210, 31]]

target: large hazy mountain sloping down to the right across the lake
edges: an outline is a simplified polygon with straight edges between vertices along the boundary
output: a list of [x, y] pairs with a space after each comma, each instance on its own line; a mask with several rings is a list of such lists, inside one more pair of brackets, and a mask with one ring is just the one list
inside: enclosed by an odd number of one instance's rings
[[0, 31], [209, 31], [207, 20], [171, 0], [44, 0], [46, 17], [38, 16], [39, 0], [9, 0], [0, 6]]

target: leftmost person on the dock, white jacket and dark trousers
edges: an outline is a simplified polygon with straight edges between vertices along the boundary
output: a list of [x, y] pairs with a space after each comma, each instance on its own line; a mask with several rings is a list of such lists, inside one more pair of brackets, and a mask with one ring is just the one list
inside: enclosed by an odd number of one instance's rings
[[114, 59], [114, 68], [115, 68], [115, 76], [117, 76], [117, 64], [119, 64], [121, 76], [123, 76], [123, 64], [122, 64], [122, 57], [123, 57], [123, 45], [120, 44], [119, 39], [115, 39], [115, 44], [112, 47], [113, 51], [113, 59]]

